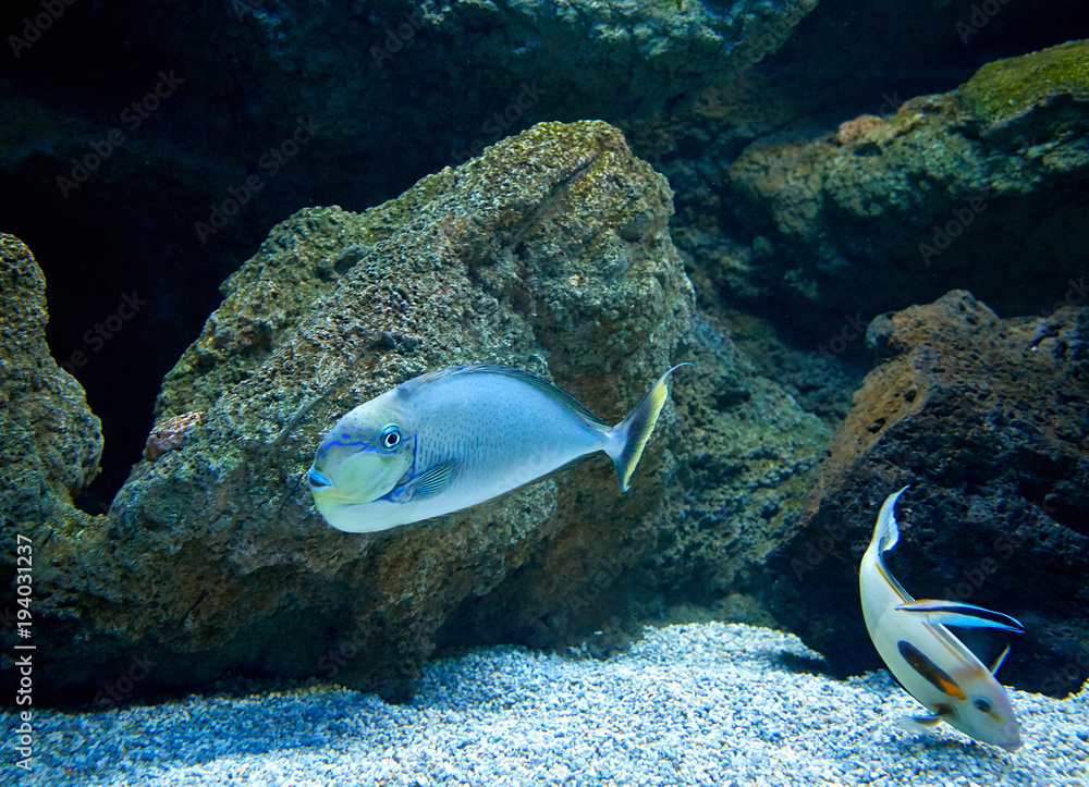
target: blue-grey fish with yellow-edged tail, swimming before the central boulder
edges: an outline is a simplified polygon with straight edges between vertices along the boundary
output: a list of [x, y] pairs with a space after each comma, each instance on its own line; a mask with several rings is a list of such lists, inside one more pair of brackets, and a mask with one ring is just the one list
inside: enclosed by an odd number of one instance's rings
[[351, 410], [326, 435], [307, 474], [315, 505], [340, 530], [388, 530], [491, 500], [597, 451], [612, 457], [627, 491], [676, 368], [615, 427], [518, 369], [423, 374]]

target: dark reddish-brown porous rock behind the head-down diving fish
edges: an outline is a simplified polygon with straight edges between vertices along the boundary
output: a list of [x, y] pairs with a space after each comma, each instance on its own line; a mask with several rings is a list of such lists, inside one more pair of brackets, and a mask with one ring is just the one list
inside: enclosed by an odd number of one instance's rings
[[1065, 696], [1089, 678], [1087, 329], [1086, 308], [1000, 320], [964, 291], [870, 325], [881, 362], [769, 561], [773, 614], [836, 673], [880, 666], [858, 564], [881, 503], [910, 484], [886, 555], [904, 587], [1018, 617], [1005, 683]]

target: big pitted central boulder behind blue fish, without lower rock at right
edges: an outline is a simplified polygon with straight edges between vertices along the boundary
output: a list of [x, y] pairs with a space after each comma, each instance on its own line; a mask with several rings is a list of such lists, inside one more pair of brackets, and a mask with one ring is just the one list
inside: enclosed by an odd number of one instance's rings
[[[659, 484], [637, 478], [622, 497], [600, 463], [579, 470], [575, 506], [561, 477], [351, 536], [316, 516], [304, 474], [351, 407], [457, 364], [525, 368], [622, 417], [692, 322], [669, 212], [664, 179], [584, 123], [539, 126], [363, 217], [315, 209], [276, 228], [164, 380], [160, 420], [199, 425], [134, 468], [108, 526], [41, 549], [57, 574], [39, 592], [65, 597], [57, 614], [81, 634], [45, 649], [44, 691], [122, 674], [112, 642], [156, 662], [140, 690], [236, 668], [396, 692], [449, 610], [540, 542], [575, 521], [654, 524]], [[648, 452], [644, 478], [660, 460]]]

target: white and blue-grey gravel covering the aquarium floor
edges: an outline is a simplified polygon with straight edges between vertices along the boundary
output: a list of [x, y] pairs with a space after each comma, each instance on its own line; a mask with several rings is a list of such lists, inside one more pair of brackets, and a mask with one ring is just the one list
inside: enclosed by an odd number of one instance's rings
[[608, 661], [490, 648], [436, 661], [406, 705], [332, 684], [35, 714], [49, 785], [1089, 785], [1089, 688], [1012, 691], [1013, 753], [942, 725], [894, 726], [915, 703], [886, 673], [796, 672], [818, 657], [779, 631], [648, 628]]

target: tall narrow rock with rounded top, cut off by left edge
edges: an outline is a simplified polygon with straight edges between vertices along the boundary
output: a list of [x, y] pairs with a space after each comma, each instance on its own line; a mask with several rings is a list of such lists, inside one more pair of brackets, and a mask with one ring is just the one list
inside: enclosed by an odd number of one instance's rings
[[[23, 644], [44, 648], [48, 629], [42, 623], [52, 617], [63, 628], [70, 614], [68, 594], [47, 589], [82, 581], [58, 575], [65, 569], [50, 565], [49, 543], [101, 534], [106, 520], [72, 502], [98, 472], [101, 425], [79, 383], [49, 355], [45, 276], [30, 250], [7, 234], [0, 234], [0, 586], [9, 593], [0, 612], [0, 644], [7, 687], [17, 675], [10, 668], [12, 655], [34, 653], [12, 650], [15, 624], [32, 635]], [[16, 577], [29, 595], [15, 594]], [[28, 606], [16, 603], [24, 599]], [[8, 697], [14, 697], [14, 688]]]

